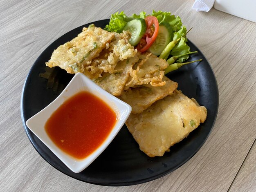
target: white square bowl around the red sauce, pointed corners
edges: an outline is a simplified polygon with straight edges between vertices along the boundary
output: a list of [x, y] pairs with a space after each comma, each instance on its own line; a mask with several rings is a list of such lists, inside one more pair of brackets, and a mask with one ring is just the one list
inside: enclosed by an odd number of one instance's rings
[[[105, 103], [107, 103], [117, 114], [117, 121], [112, 131], [102, 143], [100, 147], [97, 148], [92, 154], [87, 156], [85, 159], [77, 160], [74, 157], [66, 154], [60, 148], [58, 148], [53, 141], [49, 138], [45, 131], [45, 123], [52, 113], [65, 101], [74, 94], [86, 91], [94, 94], [95, 96], [101, 98]], [[49, 149], [63, 162], [67, 165], [70, 170], [75, 173], [83, 171], [88, 165], [90, 165], [111, 143], [113, 138], [117, 135], [121, 127], [126, 122], [128, 116], [130, 115], [132, 107], [127, 103], [119, 100], [115, 96], [106, 92], [104, 89], [96, 85], [92, 80], [86, 77], [82, 73], [77, 73], [63, 92], [47, 107], [42, 111], [38, 112], [36, 115], [32, 116], [27, 120], [26, 125], [29, 129], [41, 140], [43, 143], [49, 147]]]

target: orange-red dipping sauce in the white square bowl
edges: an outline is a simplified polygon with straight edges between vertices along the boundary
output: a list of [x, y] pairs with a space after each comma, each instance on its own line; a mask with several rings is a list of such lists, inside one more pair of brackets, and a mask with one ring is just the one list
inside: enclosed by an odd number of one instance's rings
[[65, 153], [84, 159], [105, 141], [116, 121], [116, 113], [103, 100], [79, 92], [58, 107], [45, 123], [45, 130]]

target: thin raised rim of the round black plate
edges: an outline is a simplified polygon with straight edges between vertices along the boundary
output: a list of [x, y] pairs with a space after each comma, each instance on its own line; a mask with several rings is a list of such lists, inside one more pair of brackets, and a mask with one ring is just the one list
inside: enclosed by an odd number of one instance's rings
[[[85, 25], [90, 25], [90, 24], [93, 24], [95, 22], [109, 22], [110, 19], [103, 19], [103, 20], [97, 20], [97, 21], [93, 21], [93, 22], [90, 22], [90, 23], [87, 23]], [[81, 25], [80, 27], [76, 27], [72, 30], [76, 30], [76, 29], [79, 29], [79, 28], [82, 28], [82, 27], [85, 27], [85, 25]], [[70, 30], [70, 31], [72, 31]], [[66, 33], [69, 33], [70, 31], [67, 31]], [[32, 144], [32, 146], [34, 147], [34, 149], [36, 150], [36, 152], [47, 162], [49, 163], [50, 165], [52, 165], [52, 167], [54, 167], [56, 170], [62, 172], [63, 174], [67, 175], [67, 176], [70, 176], [72, 177], [73, 179], [76, 179], [76, 180], [79, 180], [79, 181], [83, 181], [85, 183], [90, 183], [90, 184], [94, 184], [94, 185], [101, 185], [101, 186], [130, 186], [130, 185], [137, 185], [137, 184], [141, 184], [141, 183], [146, 183], [146, 182], [149, 182], [149, 181], [153, 181], [155, 179], [159, 179], [163, 176], [166, 176], [167, 174], [170, 174], [171, 172], [177, 170], [179, 167], [181, 167], [182, 165], [184, 165], [185, 163], [187, 163], [202, 147], [202, 145], [204, 145], [204, 143], [206, 142], [206, 140], [208, 139], [209, 135], [211, 134], [212, 130], [213, 130], [213, 127], [216, 123], [216, 118], [218, 116], [218, 108], [219, 108], [219, 89], [218, 89], [218, 83], [217, 83], [217, 80], [216, 80], [216, 76], [214, 74], [214, 71], [211, 67], [211, 64], [209, 63], [209, 61], [207, 60], [207, 58], [205, 58], [204, 54], [202, 53], [202, 51], [200, 51], [200, 49], [198, 49], [198, 47], [193, 43], [191, 42], [191, 40], [188, 39], [188, 41], [193, 45], [195, 46], [202, 54], [202, 56], [204, 56], [207, 64], [209, 65], [210, 69], [211, 69], [211, 73], [213, 74], [213, 77], [214, 77], [214, 84], [216, 85], [216, 90], [217, 90], [217, 105], [216, 105], [216, 114], [215, 116], [213, 117], [213, 123], [211, 125], [211, 129], [209, 131], [209, 133], [207, 134], [206, 138], [204, 139], [204, 141], [202, 143], [200, 143], [200, 145], [198, 146], [198, 148], [193, 152], [193, 154], [191, 154], [191, 156], [189, 156], [185, 161], [182, 161], [181, 163], [179, 163], [178, 165], [176, 165], [175, 167], [172, 167], [171, 169], [168, 169], [166, 170], [165, 172], [162, 172], [160, 174], [157, 174], [155, 176], [150, 176], [148, 178], [144, 178], [144, 179], [140, 179], [140, 180], [137, 180], [137, 181], [128, 181], [128, 182], [119, 182], [119, 183], [97, 183], [97, 182], [92, 182], [92, 181], [84, 181], [82, 179], [79, 179], [79, 178], [76, 178], [72, 175], [69, 175], [67, 173], [65, 173], [64, 171], [62, 171], [61, 169], [59, 169], [58, 167], [55, 167], [50, 161], [48, 161], [46, 158], [43, 157], [43, 155], [38, 151], [37, 147], [34, 145], [34, 143], [32, 142], [32, 139], [31, 139], [31, 136], [29, 135], [29, 128], [27, 127], [26, 125], [26, 122], [25, 122], [25, 112], [24, 112], [24, 103], [23, 103], [23, 100], [24, 100], [24, 94], [25, 94], [25, 87], [27, 85], [27, 81], [28, 81], [28, 78], [30, 76], [30, 74], [32, 73], [32, 69], [34, 69], [34, 67], [36, 66], [35, 64], [37, 63], [37, 60], [38, 58], [40, 58], [40, 56], [43, 55], [44, 51], [46, 49], [48, 49], [52, 44], [54, 44], [56, 41], [58, 41], [59, 38], [61, 38], [62, 36], [64, 36], [66, 33], [64, 33], [63, 35], [59, 36], [58, 38], [56, 38], [56, 40], [54, 40], [52, 43], [50, 43], [44, 50], [43, 52], [36, 58], [35, 62], [33, 63], [33, 65], [31, 66], [31, 68], [29, 69], [29, 72], [25, 78], [25, 82], [22, 86], [22, 92], [21, 92], [21, 99], [20, 99], [20, 113], [21, 113], [21, 118], [22, 118], [22, 124], [23, 124], [23, 127], [25, 129], [25, 132], [26, 132], [26, 135], [30, 141], [30, 143]], [[32, 133], [33, 134], [33, 133]], [[61, 161], [61, 160], [60, 160]]]

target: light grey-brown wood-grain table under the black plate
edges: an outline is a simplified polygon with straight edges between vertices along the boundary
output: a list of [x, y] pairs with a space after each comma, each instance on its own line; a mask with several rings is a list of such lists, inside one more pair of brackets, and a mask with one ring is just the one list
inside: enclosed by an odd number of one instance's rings
[[[144, 3], [145, 2], [145, 3]], [[256, 191], [256, 23], [192, 0], [2, 0], [0, 2], [0, 191]], [[20, 117], [23, 83], [39, 54], [67, 31], [124, 10], [171, 11], [209, 60], [220, 94], [218, 117], [198, 153], [148, 183], [105, 187], [83, 183], [49, 165], [32, 147]]]

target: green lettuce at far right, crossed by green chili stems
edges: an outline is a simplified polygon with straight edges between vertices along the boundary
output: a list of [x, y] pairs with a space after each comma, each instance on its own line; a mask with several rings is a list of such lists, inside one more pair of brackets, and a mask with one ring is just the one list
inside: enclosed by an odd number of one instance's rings
[[[182, 55], [190, 52], [189, 45], [186, 44], [186, 38], [182, 37], [180, 42], [173, 48], [171, 51], [172, 56]], [[176, 60], [177, 63], [183, 63], [185, 60], [189, 58], [188, 55], [180, 57]]]

